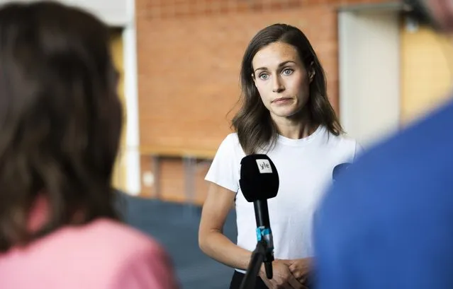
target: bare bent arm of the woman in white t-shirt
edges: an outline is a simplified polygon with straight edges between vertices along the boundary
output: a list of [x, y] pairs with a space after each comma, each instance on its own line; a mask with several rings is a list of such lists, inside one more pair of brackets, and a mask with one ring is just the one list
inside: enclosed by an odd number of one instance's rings
[[203, 204], [198, 244], [201, 251], [235, 269], [247, 269], [252, 252], [238, 247], [223, 235], [223, 225], [233, 208], [235, 192], [211, 183]]

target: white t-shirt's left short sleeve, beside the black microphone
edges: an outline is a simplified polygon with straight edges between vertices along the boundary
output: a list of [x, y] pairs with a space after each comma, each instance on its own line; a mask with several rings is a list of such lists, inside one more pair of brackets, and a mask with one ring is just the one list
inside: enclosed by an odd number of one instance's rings
[[218, 184], [235, 193], [239, 191], [240, 157], [237, 148], [240, 148], [240, 144], [236, 134], [229, 134], [220, 143], [206, 174], [206, 181]]

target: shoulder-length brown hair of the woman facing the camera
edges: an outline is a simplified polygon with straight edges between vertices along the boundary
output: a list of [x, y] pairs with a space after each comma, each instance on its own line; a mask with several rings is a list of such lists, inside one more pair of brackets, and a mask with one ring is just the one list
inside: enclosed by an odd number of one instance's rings
[[[242, 107], [233, 117], [232, 126], [246, 154], [270, 148], [276, 141], [278, 131], [269, 110], [264, 106], [252, 78], [252, 60], [262, 48], [274, 42], [283, 42], [297, 49], [298, 56], [307, 71], [313, 69], [315, 76], [310, 84], [310, 97], [306, 104], [313, 124], [325, 126], [332, 134], [342, 133], [335, 111], [330, 105], [323, 66], [306, 35], [296, 27], [274, 24], [260, 30], [250, 41], [242, 58], [240, 80]], [[312, 64], [313, 63], [313, 64]]]

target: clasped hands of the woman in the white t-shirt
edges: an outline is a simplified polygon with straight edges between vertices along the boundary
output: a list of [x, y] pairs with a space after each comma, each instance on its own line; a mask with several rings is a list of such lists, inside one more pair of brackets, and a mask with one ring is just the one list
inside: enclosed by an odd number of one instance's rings
[[[289, 261], [289, 260], [286, 260]], [[272, 261], [272, 279], [266, 277], [264, 264], [259, 271], [259, 277], [262, 278], [264, 284], [269, 289], [307, 289], [300, 281], [298, 281], [289, 269], [289, 263], [283, 260]], [[296, 260], [294, 260], [296, 261]]]

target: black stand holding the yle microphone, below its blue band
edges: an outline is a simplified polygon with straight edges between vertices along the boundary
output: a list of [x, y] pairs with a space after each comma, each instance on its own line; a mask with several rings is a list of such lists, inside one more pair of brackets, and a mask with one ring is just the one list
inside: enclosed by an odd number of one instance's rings
[[245, 277], [242, 279], [240, 289], [255, 288], [257, 276], [259, 275], [259, 269], [263, 263], [266, 269], [267, 278], [272, 279], [272, 261], [274, 261], [274, 256], [272, 256], [272, 251], [269, 252], [267, 247], [268, 244], [264, 238], [257, 242], [257, 247], [252, 253], [250, 264], [247, 268], [247, 272], [245, 273]]

